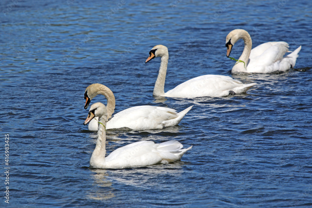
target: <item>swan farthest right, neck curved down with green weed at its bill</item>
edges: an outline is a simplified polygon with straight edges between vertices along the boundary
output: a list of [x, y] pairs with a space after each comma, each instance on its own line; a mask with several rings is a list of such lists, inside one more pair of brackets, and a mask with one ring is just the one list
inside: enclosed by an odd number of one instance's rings
[[246, 30], [232, 30], [226, 38], [227, 57], [230, 56], [232, 47], [239, 40], [244, 40], [244, 50], [232, 68], [232, 74], [262, 73], [269, 74], [275, 71], [287, 71], [295, 67], [299, 46], [295, 51], [284, 57], [288, 51], [288, 43], [266, 42], [251, 50], [252, 42]]

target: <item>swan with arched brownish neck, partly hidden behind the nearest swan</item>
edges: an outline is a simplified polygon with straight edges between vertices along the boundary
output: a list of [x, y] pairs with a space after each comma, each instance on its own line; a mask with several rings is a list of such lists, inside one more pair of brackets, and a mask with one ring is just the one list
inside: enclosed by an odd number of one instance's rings
[[[104, 95], [107, 99], [108, 121], [106, 129], [128, 127], [133, 130], [152, 130], [176, 126], [193, 107], [192, 105], [177, 113], [171, 108], [142, 105], [125, 109], [112, 116], [115, 109], [115, 96], [108, 87], [98, 83], [85, 89], [85, 109], [88, 108], [91, 99], [98, 94]], [[98, 118], [95, 119], [91, 120], [88, 125], [90, 131], [98, 130]]]

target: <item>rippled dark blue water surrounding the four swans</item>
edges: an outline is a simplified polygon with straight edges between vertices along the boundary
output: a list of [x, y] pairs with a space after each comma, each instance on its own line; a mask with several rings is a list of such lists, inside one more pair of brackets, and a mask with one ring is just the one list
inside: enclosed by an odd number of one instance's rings
[[[1, 1], [1, 207], [310, 207], [312, 206], [312, 4], [297, 1]], [[165, 91], [190, 78], [230, 75], [225, 38], [249, 31], [253, 46], [302, 45], [295, 70], [232, 76], [256, 82], [223, 98], [152, 96], [169, 49]], [[243, 45], [231, 55], [238, 58]], [[83, 94], [108, 86], [116, 109], [178, 111], [176, 127], [108, 131], [107, 152], [129, 143], [193, 145], [181, 161], [122, 170], [89, 169], [96, 133], [82, 123]], [[105, 103], [97, 96], [92, 103]], [[9, 134], [9, 165], [5, 136]]]

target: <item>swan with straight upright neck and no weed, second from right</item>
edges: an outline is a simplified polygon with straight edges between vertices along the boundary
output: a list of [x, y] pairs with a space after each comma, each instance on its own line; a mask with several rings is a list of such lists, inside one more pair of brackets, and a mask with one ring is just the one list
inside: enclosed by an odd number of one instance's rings
[[149, 57], [145, 63], [161, 57], [158, 77], [155, 82], [153, 95], [174, 98], [196, 98], [196, 97], [224, 97], [229, 94], [239, 94], [246, 92], [256, 83], [243, 84], [229, 76], [223, 75], [202, 75], [190, 79], [175, 88], [164, 92], [164, 85], [168, 65], [168, 48], [163, 45], [154, 46], [149, 51]]

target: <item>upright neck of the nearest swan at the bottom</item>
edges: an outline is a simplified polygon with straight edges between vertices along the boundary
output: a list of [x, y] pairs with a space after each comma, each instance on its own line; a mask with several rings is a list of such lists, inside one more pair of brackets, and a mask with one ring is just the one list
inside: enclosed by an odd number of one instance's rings
[[95, 149], [92, 153], [90, 159], [91, 167], [101, 167], [105, 163], [105, 154], [106, 154], [106, 118], [99, 117], [99, 129], [97, 133], [97, 141]]

